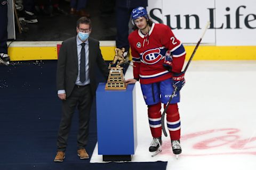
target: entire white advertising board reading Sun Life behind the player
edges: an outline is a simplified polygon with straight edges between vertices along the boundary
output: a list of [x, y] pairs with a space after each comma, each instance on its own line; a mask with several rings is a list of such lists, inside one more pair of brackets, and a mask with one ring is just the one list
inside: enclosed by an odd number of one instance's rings
[[255, 0], [148, 0], [147, 11], [156, 23], [169, 25], [182, 43], [197, 43], [211, 21], [202, 43], [256, 45]]

